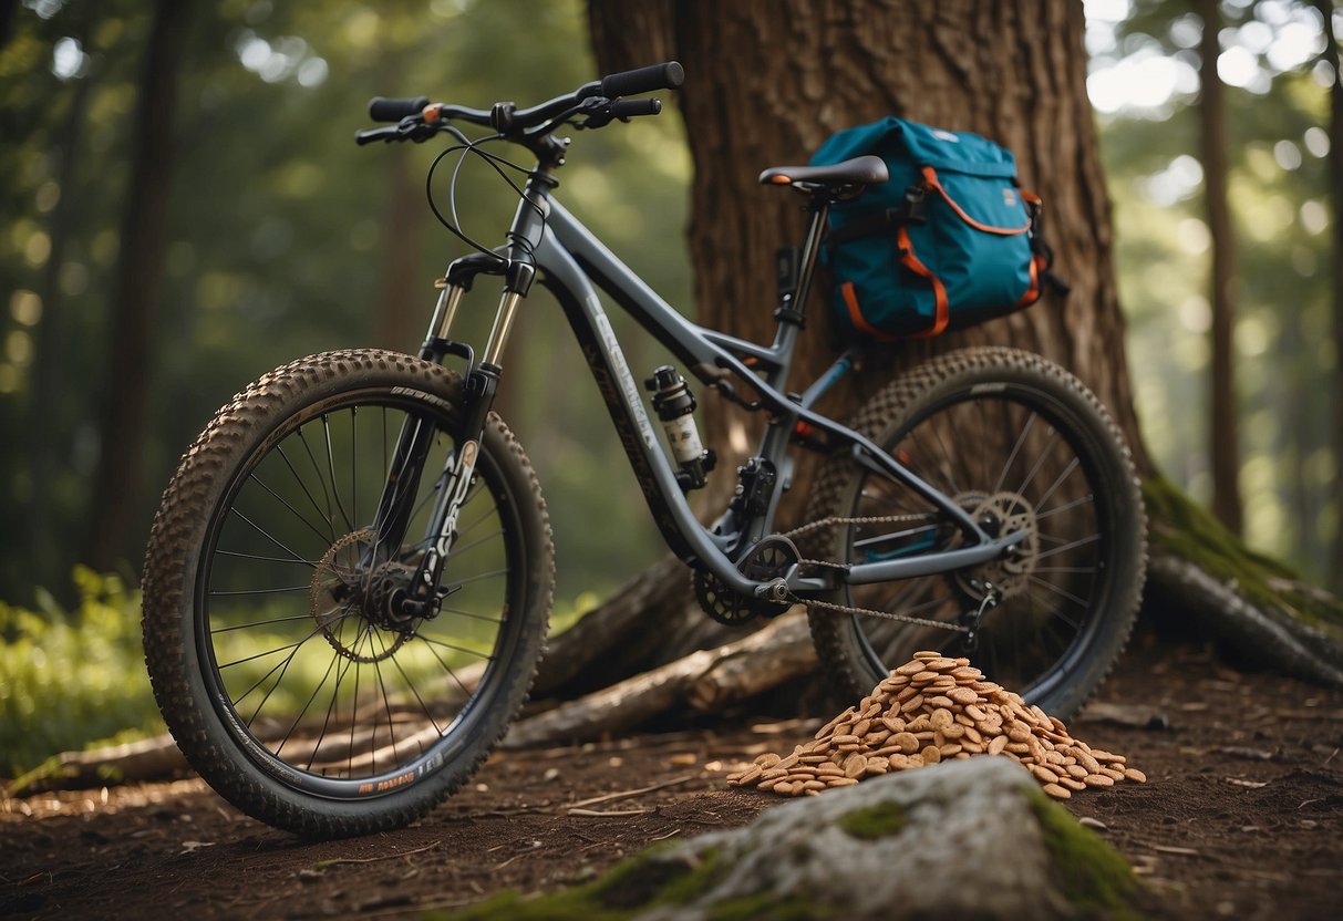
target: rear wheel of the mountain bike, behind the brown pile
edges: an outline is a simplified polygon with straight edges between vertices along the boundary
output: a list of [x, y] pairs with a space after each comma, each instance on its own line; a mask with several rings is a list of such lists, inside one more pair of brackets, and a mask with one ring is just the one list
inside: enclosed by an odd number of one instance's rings
[[[861, 697], [916, 651], [936, 650], [971, 659], [1056, 716], [1077, 710], [1127, 643], [1146, 573], [1136, 475], [1096, 397], [1038, 356], [966, 349], [896, 379], [851, 427], [990, 534], [1025, 537], [1013, 559], [846, 585], [822, 599], [829, 605], [813, 605], [811, 632], [830, 677]], [[841, 564], [963, 541], [945, 513], [850, 458], [818, 477], [807, 520], [826, 518], [833, 521], [811, 550]], [[972, 640], [945, 628], [966, 626], [967, 614], [979, 611]]]

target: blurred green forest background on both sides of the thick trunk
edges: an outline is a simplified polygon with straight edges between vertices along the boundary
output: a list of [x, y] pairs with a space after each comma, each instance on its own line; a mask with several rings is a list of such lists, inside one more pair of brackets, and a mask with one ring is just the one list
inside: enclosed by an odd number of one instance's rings
[[[596, 75], [580, 0], [181, 5], [189, 16], [175, 40], [168, 140], [149, 187], [137, 188], [130, 164], [144, 137], [137, 97], [153, 5], [0, 3], [0, 685], [20, 673], [59, 681], [60, 652], [20, 642], [24, 631], [36, 635], [36, 622], [97, 623], [105, 638], [133, 644], [134, 605], [117, 587], [137, 581], [177, 456], [247, 381], [328, 348], [418, 345], [431, 282], [463, 250], [423, 204], [438, 149], [353, 144], [367, 98], [526, 105]], [[1225, 0], [1217, 72], [1238, 248], [1244, 537], [1338, 588], [1328, 197], [1336, 78], [1326, 5]], [[1202, 23], [1190, 7], [1088, 0], [1088, 90], [1146, 440], [1167, 477], [1210, 501], [1211, 458], [1228, 446], [1211, 443], [1207, 423], [1211, 234], [1197, 115]], [[694, 316], [684, 130], [667, 111], [579, 136], [560, 197]], [[441, 201], [447, 172], [434, 187]], [[1033, 177], [1022, 180], [1030, 187]], [[167, 208], [161, 271], [137, 278], [144, 295], [128, 305], [118, 294], [128, 213], [154, 195]], [[457, 204], [465, 230], [493, 242], [514, 200], [492, 171], [467, 162]], [[779, 243], [799, 231], [800, 219], [780, 228]], [[774, 281], [761, 279], [759, 294], [739, 309], [770, 310]], [[490, 301], [474, 302], [473, 321], [489, 321]], [[118, 311], [145, 307], [142, 352], [114, 348]], [[572, 616], [662, 548], [560, 311], [540, 294], [522, 324], [501, 412], [545, 489], [559, 607]], [[627, 324], [618, 329], [637, 375], [661, 361]], [[140, 385], [142, 436], [114, 411]], [[113, 458], [130, 474], [109, 485]], [[113, 503], [128, 512], [109, 516]], [[77, 565], [93, 569], [75, 580]], [[38, 662], [32, 652], [43, 648]], [[142, 683], [138, 671], [124, 681]], [[16, 699], [15, 687], [0, 687], [0, 722]], [[117, 720], [109, 729], [134, 722]]]

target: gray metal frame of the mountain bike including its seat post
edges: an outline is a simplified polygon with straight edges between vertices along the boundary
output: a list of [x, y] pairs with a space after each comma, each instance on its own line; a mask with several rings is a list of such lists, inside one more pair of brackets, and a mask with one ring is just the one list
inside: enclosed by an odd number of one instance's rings
[[[518, 205], [509, 234], [512, 240], [525, 240], [526, 246], [518, 247], [514, 243], [502, 247], [501, 252], [514, 258], [524, 251], [530, 254], [529, 259], [540, 273], [539, 281], [559, 299], [607, 404], [654, 521], [667, 545], [684, 561], [705, 567], [728, 588], [743, 595], [763, 596], [771, 588], [778, 589], [778, 580], [760, 583], [741, 575], [733, 557], [740, 559], [751, 545], [774, 530], [779, 498], [791, 481], [792, 465], [787, 456], [790, 436], [799, 422], [825, 434], [833, 444], [846, 447], [857, 463], [904, 483], [928, 499], [954, 520], [968, 538], [967, 546], [952, 550], [847, 565], [838, 571], [841, 581], [866, 584], [951, 572], [994, 560], [1025, 537], [1022, 533], [1003, 538], [990, 537], [952, 498], [919, 478], [878, 444], [813, 409], [829, 381], [842, 376], [851, 364], [851, 356], [841, 357], [800, 397], [790, 399], [783, 388], [800, 324], [780, 322], [775, 342], [763, 346], [690, 322], [658, 297], [549, 192], [549, 183], [535, 177], [528, 183], [525, 200]], [[795, 307], [799, 310], [819, 251], [823, 213], [822, 209], [819, 216], [814, 215], [803, 248], [802, 273], [794, 291]], [[745, 529], [716, 533], [701, 525], [690, 510], [594, 285], [606, 291], [701, 383], [712, 385], [736, 377], [756, 392], [760, 407], [770, 414], [757, 456], [774, 465], [778, 478], [767, 512], [748, 517]], [[431, 338], [449, 340], [461, 297], [462, 290], [457, 286], [449, 286], [443, 291], [430, 326]], [[485, 361], [497, 362], [502, 356], [520, 301], [518, 293], [504, 293], [483, 352]], [[748, 367], [745, 358], [753, 360], [753, 367]], [[727, 520], [728, 516], [724, 516], [724, 522]], [[787, 572], [783, 583], [791, 592], [802, 593], [831, 587], [826, 580], [802, 575], [796, 565]]]

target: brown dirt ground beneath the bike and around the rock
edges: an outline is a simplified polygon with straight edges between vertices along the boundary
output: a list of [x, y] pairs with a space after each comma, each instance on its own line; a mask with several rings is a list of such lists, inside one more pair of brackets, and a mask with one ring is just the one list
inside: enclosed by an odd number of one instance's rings
[[[414, 917], [552, 890], [651, 842], [751, 822], [782, 800], [727, 789], [724, 775], [821, 722], [498, 755], [424, 822], [322, 844], [243, 818], [195, 779], [5, 799], [0, 916]], [[1066, 804], [1133, 865], [1147, 914], [1338, 917], [1343, 691], [1142, 631], [1069, 728], [1148, 776]]]

